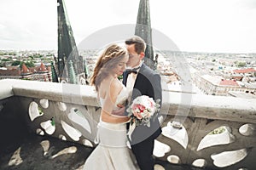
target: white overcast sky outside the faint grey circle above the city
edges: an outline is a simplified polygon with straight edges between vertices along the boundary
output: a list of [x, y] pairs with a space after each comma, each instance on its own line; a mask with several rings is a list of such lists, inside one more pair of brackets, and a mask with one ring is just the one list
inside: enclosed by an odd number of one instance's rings
[[[57, 0], [0, 0], [0, 49], [57, 49]], [[65, 0], [77, 44], [136, 24], [139, 0]], [[181, 51], [256, 53], [256, 0], [150, 0], [151, 26]], [[154, 37], [153, 37], [154, 38]]]

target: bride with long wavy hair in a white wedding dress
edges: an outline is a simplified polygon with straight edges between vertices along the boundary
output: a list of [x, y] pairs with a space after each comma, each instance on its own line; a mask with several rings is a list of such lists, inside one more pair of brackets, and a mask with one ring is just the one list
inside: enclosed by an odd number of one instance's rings
[[116, 44], [110, 45], [96, 62], [90, 79], [96, 87], [97, 97], [102, 105], [100, 122], [96, 137], [96, 149], [84, 163], [84, 170], [138, 169], [136, 159], [126, 146], [126, 123], [130, 117], [113, 115], [128, 98], [127, 89], [118, 76], [125, 71], [128, 53]]

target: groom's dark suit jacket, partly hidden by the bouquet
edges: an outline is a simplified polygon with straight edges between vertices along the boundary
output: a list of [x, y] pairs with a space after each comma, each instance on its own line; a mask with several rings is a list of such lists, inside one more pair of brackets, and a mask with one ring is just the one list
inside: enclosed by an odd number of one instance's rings
[[[123, 83], [125, 86], [127, 77], [128, 74], [125, 71], [123, 75]], [[160, 82], [160, 75], [143, 63], [139, 72], [137, 73], [137, 78], [131, 94], [131, 101], [140, 95], [148, 95], [154, 100], [160, 99], [160, 101], [162, 101], [162, 88]], [[160, 122], [158, 118], [156, 118], [154, 122], [151, 120], [150, 127], [141, 125], [135, 128], [131, 134], [131, 144], [140, 143], [144, 139], [148, 138], [156, 139], [160, 133]]]

